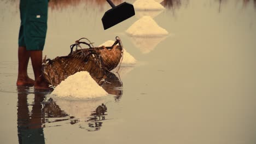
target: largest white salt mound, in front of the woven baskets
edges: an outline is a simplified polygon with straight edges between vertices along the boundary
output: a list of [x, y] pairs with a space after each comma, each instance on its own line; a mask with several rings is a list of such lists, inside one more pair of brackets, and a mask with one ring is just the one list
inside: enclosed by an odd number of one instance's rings
[[51, 93], [56, 97], [97, 98], [108, 93], [100, 87], [87, 71], [68, 76]]

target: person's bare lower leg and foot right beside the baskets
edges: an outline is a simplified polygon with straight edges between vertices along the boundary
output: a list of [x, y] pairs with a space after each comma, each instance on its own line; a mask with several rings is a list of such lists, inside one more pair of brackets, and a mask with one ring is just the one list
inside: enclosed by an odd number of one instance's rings
[[41, 50], [30, 51], [30, 57], [31, 57], [32, 67], [34, 70], [34, 80], [35, 80], [34, 88], [48, 89], [49, 88], [48, 82], [46, 82], [44, 77], [42, 76], [43, 51]]

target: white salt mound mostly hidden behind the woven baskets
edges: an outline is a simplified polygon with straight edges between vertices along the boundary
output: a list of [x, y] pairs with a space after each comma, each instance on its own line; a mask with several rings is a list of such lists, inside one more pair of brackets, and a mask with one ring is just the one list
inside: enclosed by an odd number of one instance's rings
[[[112, 46], [114, 43], [115, 41], [108, 40], [105, 43], [101, 44], [100, 46], [102, 45]], [[135, 63], [136, 63], [136, 59], [124, 49], [124, 58], [123, 58], [122, 64], [135, 64]]]

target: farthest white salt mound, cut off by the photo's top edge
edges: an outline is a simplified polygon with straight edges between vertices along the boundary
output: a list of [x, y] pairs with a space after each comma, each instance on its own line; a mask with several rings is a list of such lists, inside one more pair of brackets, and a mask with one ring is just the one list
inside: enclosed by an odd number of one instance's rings
[[154, 0], [137, 0], [133, 3], [136, 10], [161, 10], [165, 9], [161, 4]]

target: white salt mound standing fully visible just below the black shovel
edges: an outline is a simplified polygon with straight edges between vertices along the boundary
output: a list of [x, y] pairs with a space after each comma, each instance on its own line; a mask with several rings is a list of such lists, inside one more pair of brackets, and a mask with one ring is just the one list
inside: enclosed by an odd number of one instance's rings
[[168, 32], [158, 26], [150, 16], [143, 16], [133, 23], [126, 33], [136, 37], [162, 37], [168, 35]]

